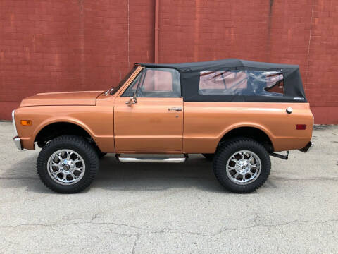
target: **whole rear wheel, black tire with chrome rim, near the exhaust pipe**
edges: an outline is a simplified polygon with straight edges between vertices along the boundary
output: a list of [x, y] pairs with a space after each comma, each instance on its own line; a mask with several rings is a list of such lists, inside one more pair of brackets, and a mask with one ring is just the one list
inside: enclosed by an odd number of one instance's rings
[[216, 179], [228, 191], [250, 193], [268, 179], [271, 162], [263, 145], [250, 138], [225, 143], [213, 160]]

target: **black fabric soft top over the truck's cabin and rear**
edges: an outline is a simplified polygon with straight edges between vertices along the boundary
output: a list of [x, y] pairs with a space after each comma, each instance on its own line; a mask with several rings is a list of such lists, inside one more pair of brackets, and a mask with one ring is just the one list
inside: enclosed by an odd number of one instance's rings
[[[299, 66], [263, 63], [241, 59], [223, 59], [194, 63], [137, 63], [149, 68], [174, 68], [180, 72], [182, 96], [185, 102], [307, 102]], [[284, 95], [201, 95], [201, 71], [278, 71], [284, 77]]]

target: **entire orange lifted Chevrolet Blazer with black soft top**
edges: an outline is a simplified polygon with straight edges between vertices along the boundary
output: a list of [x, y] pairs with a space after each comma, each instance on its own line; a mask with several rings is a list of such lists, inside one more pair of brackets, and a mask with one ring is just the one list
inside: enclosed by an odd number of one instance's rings
[[222, 186], [249, 193], [268, 178], [270, 156], [308, 151], [313, 115], [298, 66], [225, 59], [136, 63], [106, 92], [27, 97], [13, 124], [19, 150], [42, 147], [37, 173], [59, 193], [87, 188], [108, 152], [162, 163], [200, 153]]

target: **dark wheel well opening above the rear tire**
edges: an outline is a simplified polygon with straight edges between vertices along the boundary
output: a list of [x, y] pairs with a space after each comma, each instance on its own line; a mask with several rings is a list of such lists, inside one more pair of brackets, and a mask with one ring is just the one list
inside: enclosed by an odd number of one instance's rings
[[235, 128], [223, 136], [223, 138], [220, 140], [220, 144], [236, 137], [252, 138], [258, 143], [261, 143], [261, 145], [263, 145], [263, 147], [265, 147], [268, 152], [273, 152], [273, 143], [271, 142], [269, 136], [266, 135], [264, 131], [254, 127]]

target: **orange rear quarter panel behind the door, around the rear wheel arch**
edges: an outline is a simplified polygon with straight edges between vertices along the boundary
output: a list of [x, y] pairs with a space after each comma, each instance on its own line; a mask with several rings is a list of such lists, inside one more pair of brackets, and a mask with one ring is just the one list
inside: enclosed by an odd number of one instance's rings
[[[308, 128], [296, 130], [297, 123]], [[311, 140], [313, 116], [308, 103], [184, 102], [183, 151], [213, 153], [223, 135], [239, 127], [260, 129], [275, 151], [294, 150]]]

